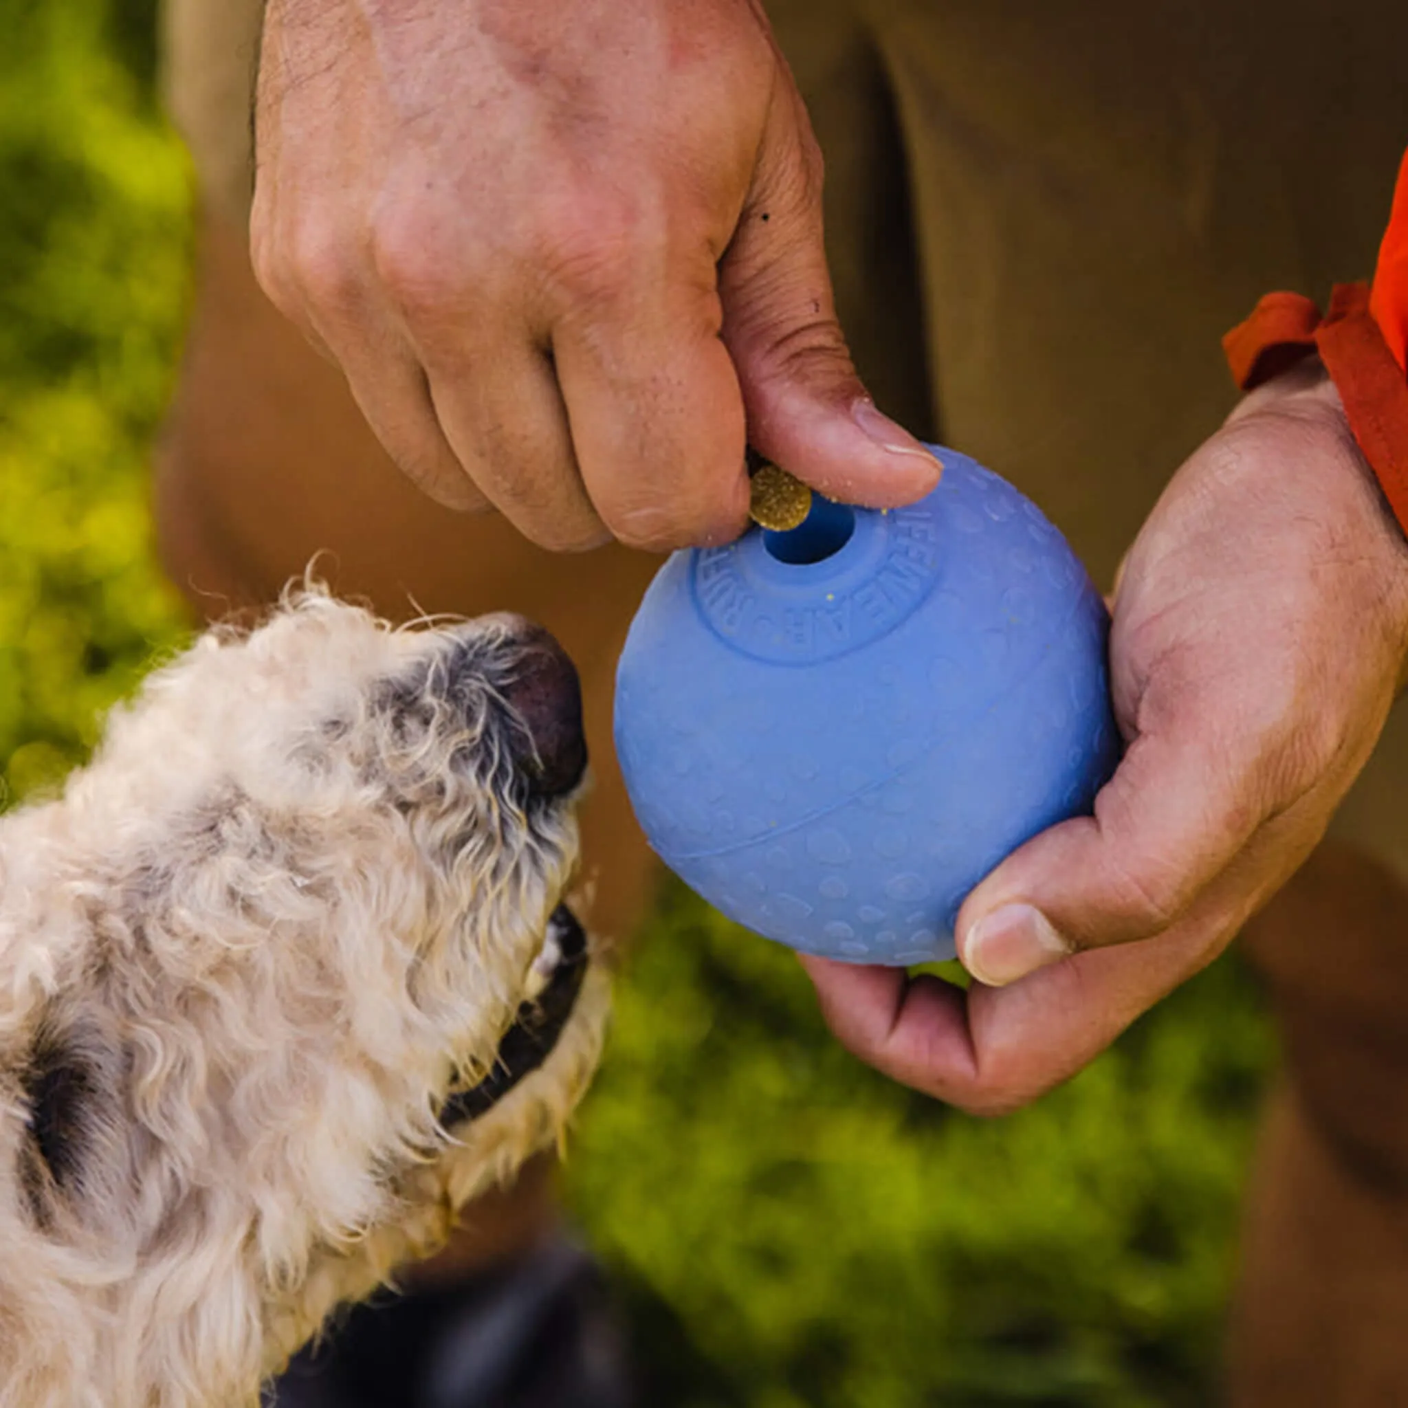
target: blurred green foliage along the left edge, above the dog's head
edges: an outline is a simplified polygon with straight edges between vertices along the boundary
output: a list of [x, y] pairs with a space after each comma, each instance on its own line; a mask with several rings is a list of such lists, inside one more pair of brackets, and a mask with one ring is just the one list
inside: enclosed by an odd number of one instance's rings
[[[115, 3], [115, 0], [114, 0]], [[0, 765], [55, 781], [180, 638], [148, 445], [187, 301], [189, 180], [99, 0], [0, 0]], [[148, 49], [151, 48], [148, 30]]]

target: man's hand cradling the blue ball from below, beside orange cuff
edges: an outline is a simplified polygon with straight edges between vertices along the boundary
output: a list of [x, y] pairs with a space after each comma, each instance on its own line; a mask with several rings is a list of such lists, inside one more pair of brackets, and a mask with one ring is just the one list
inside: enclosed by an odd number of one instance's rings
[[969, 895], [967, 994], [807, 959], [832, 1029], [976, 1112], [1067, 1079], [1307, 857], [1405, 649], [1408, 545], [1332, 383], [1302, 366], [1183, 466], [1125, 562], [1111, 679], [1128, 750], [1095, 815], [1033, 838]]

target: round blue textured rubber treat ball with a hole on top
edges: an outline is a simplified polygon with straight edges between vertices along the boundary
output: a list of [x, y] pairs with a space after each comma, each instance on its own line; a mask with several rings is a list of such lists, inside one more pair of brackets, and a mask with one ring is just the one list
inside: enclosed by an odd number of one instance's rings
[[1088, 812], [1118, 759], [1086, 570], [1011, 484], [935, 455], [908, 508], [817, 496], [800, 527], [674, 553], [621, 656], [617, 750], [650, 845], [807, 953], [952, 957], [969, 890]]

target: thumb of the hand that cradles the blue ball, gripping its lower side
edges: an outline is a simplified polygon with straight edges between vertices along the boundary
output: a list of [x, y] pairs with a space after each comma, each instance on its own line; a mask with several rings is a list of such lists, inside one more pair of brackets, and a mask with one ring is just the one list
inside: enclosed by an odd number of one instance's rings
[[1145, 735], [1077, 817], [1035, 836], [964, 900], [964, 967], [1001, 987], [1049, 963], [1171, 928], [1259, 829], [1249, 777], [1207, 739]]

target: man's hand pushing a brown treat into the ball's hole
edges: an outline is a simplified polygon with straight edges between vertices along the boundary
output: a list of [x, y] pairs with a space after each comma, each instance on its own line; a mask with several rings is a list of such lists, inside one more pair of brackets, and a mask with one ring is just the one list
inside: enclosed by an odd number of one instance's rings
[[269, 0], [256, 148], [259, 282], [444, 504], [727, 541], [745, 425], [855, 503], [938, 479], [850, 365], [755, 0]]

